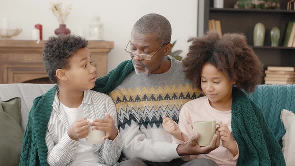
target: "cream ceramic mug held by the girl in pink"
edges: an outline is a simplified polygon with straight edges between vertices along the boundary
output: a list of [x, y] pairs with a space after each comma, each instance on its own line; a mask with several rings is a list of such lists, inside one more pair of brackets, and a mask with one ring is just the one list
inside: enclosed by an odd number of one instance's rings
[[193, 133], [196, 134], [198, 132], [200, 135], [197, 144], [199, 146], [209, 145], [216, 133], [216, 125], [219, 124], [220, 123], [216, 123], [215, 120], [193, 122]]

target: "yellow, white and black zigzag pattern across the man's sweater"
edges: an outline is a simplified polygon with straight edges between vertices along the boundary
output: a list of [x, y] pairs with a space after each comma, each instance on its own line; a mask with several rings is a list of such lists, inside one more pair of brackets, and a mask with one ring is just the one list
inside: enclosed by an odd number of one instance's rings
[[115, 101], [118, 126], [122, 129], [130, 126], [132, 121], [140, 127], [159, 128], [163, 116], [178, 122], [182, 106], [192, 99], [203, 96], [189, 84], [134, 90], [121, 88], [109, 95]]

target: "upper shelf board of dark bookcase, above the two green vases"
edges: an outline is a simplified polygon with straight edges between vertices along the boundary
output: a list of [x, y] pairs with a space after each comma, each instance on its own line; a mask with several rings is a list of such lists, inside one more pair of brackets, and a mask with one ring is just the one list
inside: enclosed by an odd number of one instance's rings
[[294, 10], [281, 9], [236, 9], [236, 8], [210, 8], [210, 11], [223, 12], [268, 12], [268, 13], [295, 13]]

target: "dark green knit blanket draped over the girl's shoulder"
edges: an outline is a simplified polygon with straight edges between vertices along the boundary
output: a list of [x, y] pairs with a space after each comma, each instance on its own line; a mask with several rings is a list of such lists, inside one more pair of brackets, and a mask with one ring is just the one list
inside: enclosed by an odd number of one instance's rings
[[232, 97], [231, 127], [239, 148], [237, 165], [285, 165], [281, 147], [261, 110], [236, 87]]

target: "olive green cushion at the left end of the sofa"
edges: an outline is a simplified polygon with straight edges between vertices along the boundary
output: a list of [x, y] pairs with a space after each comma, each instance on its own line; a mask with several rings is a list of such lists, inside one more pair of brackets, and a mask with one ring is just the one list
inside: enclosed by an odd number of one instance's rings
[[23, 140], [20, 102], [20, 97], [0, 102], [0, 165], [19, 163]]

